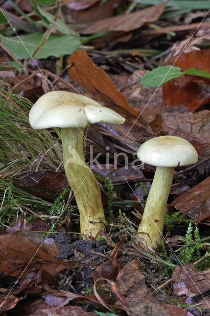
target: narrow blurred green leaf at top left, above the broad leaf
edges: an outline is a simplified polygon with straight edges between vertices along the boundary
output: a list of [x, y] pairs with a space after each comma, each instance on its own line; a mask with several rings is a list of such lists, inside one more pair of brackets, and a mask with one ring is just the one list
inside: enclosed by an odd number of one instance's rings
[[[42, 8], [40, 8], [38, 5], [36, 5], [34, 2], [32, 2], [33, 8], [35, 11], [35, 14], [38, 15], [41, 18], [41, 21], [43, 25], [48, 28], [49, 25], [54, 21], [54, 15], [50, 14], [47, 11], [44, 11]], [[61, 19], [58, 19], [58, 21], [55, 24], [54, 27], [55, 30], [61, 32], [62, 34], [72, 34], [76, 36], [76, 32], [70, 29], [70, 27]]]

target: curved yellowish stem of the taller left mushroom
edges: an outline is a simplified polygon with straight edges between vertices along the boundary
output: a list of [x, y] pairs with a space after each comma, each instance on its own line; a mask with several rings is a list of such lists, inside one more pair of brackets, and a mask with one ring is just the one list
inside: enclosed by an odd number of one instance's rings
[[84, 128], [61, 128], [64, 168], [80, 213], [80, 232], [96, 237], [105, 218], [99, 185], [83, 154]]

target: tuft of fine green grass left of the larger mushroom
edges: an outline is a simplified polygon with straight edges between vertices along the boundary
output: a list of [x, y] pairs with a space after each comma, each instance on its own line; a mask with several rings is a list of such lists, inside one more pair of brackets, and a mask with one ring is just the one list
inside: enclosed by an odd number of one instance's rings
[[11, 91], [9, 85], [0, 85], [0, 96], [0, 177], [17, 179], [29, 171], [61, 168], [59, 140], [48, 131], [40, 133], [29, 125], [32, 103]]

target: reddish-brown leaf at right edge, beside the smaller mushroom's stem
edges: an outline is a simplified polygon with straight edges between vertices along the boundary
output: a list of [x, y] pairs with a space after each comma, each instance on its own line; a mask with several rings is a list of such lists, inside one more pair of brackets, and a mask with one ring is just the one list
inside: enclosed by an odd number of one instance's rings
[[210, 221], [210, 176], [170, 203], [195, 223]]

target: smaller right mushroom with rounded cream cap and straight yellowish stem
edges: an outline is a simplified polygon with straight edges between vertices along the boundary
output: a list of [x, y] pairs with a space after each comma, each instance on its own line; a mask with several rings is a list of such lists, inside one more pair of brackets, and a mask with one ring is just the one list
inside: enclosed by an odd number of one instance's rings
[[174, 167], [198, 161], [195, 148], [177, 136], [160, 136], [147, 140], [137, 153], [145, 163], [156, 166], [152, 186], [147, 197], [137, 239], [154, 249], [162, 239], [167, 200], [172, 186]]

